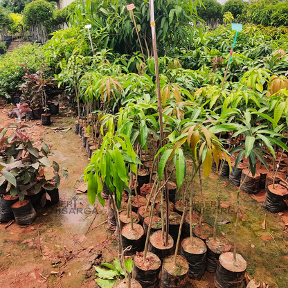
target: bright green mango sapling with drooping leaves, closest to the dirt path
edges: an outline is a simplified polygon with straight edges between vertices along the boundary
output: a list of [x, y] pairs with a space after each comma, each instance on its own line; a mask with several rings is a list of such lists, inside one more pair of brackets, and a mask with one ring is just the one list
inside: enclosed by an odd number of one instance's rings
[[[116, 218], [119, 241], [119, 260], [125, 273], [125, 279], [127, 280], [130, 279], [130, 276], [127, 276], [125, 270], [123, 235], [121, 235], [118, 210], [120, 210], [121, 207], [124, 188], [131, 195], [130, 172], [134, 172], [134, 174], [137, 173], [137, 163], [140, 161], [138, 161], [136, 157], [129, 137], [125, 134], [114, 134], [113, 118], [109, 119], [107, 128], [107, 133], [103, 137], [100, 149], [93, 153], [89, 165], [87, 165], [87, 168], [84, 170], [84, 181], [88, 183], [87, 195], [91, 205], [95, 203], [96, 196], [98, 197], [100, 204], [102, 204], [102, 206], [105, 205], [105, 199], [102, 199], [101, 197], [103, 188], [102, 183], [105, 183], [109, 190], [109, 197]], [[132, 224], [131, 226], [130, 224], [126, 224], [125, 226], [127, 226], [128, 232], [133, 230], [133, 233], [137, 233], [139, 227], [142, 228], [138, 224]], [[122, 229], [122, 233], [125, 230], [125, 226]]]

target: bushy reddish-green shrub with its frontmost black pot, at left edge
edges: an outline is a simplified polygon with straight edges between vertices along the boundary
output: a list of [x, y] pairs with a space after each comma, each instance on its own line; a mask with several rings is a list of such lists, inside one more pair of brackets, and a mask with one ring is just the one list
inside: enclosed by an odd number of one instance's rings
[[[7, 129], [1, 129], [0, 142], [0, 183], [6, 184], [6, 193], [11, 197], [18, 197], [19, 201], [12, 205], [17, 224], [31, 224], [36, 213], [30, 201], [31, 196], [38, 195], [44, 189], [50, 189], [44, 177], [44, 168], [51, 166], [48, 156], [53, 155], [51, 146], [42, 143], [42, 149], [37, 149], [27, 135], [21, 129], [27, 127], [10, 124], [8, 128], [16, 128], [14, 136], [5, 136]], [[59, 165], [53, 163], [55, 185], [59, 186]], [[62, 169], [62, 175], [66, 176], [66, 170]], [[52, 189], [51, 189], [52, 190]], [[30, 196], [30, 197], [29, 197]]]

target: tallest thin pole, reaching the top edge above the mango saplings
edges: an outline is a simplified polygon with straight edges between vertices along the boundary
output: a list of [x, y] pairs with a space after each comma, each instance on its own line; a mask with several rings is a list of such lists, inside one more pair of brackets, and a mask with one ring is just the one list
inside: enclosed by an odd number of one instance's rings
[[[154, 64], [155, 64], [155, 74], [156, 74], [156, 91], [158, 99], [158, 111], [159, 111], [159, 126], [160, 126], [160, 146], [163, 147], [164, 142], [164, 132], [163, 132], [163, 116], [162, 116], [162, 103], [161, 103], [161, 92], [160, 92], [160, 79], [159, 79], [159, 64], [158, 64], [158, 53], [157, 53], [157, 41], [156, 41], [156, 26], [155, 26], [155, 16], [154, 16], [154, 0], [149, 0], [150, 5], [150, 26], [152, 32], [152, 44], [153, 44], [153, 54], [154, 54]], [[169, 235], [169, 191], [168, 191], [168, 179], [167, 169], [164, 168], [163, 182], [165, 184], [165, 198], [166, 198], [166, 235], [165, 235], [165, 245], [168, 244]]]

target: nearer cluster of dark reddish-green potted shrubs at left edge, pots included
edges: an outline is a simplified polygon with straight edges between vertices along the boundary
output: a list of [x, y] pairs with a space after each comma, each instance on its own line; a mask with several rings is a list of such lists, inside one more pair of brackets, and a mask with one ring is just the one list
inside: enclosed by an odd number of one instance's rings
[[[21, 132], [28, 125], [10, 124], [0, 128], [0, 221], [15, 218], [19, 225], [31, 224], [36, 217], [35, 208], [59, 201], [61, 176], [68, 172], [48, 156], [53, 156], [52, 145], [42, 143], [39, 149], [27, 134]], [[12, 136], [6, 136], [15, 129]], [[53, 166], [53, 178], [46, 179], [45, 168]]]

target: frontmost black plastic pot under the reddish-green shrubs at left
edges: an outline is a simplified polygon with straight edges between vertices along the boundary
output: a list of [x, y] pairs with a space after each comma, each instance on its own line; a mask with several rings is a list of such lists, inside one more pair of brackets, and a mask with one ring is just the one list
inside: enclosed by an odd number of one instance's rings
[[36, 217], [36, 211], [28, 199], [17, 201], [12, 205], [12, 211], [18, 225], [30, 225]]

